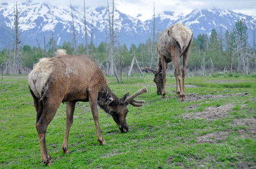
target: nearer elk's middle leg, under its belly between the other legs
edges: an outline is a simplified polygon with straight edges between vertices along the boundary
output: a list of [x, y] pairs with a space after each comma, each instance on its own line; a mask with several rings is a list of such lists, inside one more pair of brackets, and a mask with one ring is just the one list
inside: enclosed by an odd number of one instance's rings
[[69, 131], [73, 123], [74, 110], [75, 110], [75, 101], [67, 101], [66, 132], [65, 132], [65, 137], [62, 144], [63, 153], [69, 153], [69, 148], [68, 148]]

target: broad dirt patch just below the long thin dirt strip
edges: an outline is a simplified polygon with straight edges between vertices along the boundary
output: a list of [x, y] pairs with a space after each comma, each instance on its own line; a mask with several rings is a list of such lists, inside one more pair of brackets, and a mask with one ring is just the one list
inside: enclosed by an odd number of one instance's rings
[[227, 117], [228, 113], [232, 111], [232, 108], [233, 108], [233, 104], [226, 104], [222, 106], [210, 106], [205, 110], [203, 110], [203, 112], [185, 113], [185, 114], [182, 114], [182, 116], [188, 119], [215, 120], [215, 119]]

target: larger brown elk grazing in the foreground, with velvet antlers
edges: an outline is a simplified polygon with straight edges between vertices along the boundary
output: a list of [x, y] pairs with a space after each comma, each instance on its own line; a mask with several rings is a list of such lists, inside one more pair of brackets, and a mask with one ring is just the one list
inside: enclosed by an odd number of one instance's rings
[[129, 93], [118, 98], [106, 84], [104, 73], [99, 66], [86, 55], [62, 55], [44, 58], [37, 63], [28, 75], [28, 84], [36, 108], [36, 129], [39, 135], [42, 162], [50, 165], [50, 157], [45, 144], [48, 124], [52, 121], [62, 102], [67, 102], [66, 132], [62, 144], [64, 153], [68, 153], [68, 137], [73, 122], [77, 101], [89, 101], [95, 121], [97, 139], [100, 145], [106, 144], [100, 130], [97, 104], [112, 115], [121, 132], [127, 132], [127, 105], [142, 106], [144, 100], [134, 98], [144, 92], [143, 87], [132, 96]]

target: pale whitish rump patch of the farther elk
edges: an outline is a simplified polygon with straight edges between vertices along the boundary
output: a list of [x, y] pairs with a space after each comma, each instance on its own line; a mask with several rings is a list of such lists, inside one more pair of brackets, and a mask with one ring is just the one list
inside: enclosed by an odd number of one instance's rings
[[192, 32], [189, 28], [184, 26], [182, 23], [176, 23], [172, 27], [172, 34], [174, 39], [180, 44], [181, 51], [184, 51], [189, 45], [190, 39], [192, 37]]

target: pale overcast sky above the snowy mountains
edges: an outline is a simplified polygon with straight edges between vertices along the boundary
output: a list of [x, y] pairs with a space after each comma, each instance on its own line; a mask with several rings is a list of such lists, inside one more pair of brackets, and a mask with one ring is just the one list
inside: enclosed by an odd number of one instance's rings
[[[18, 3], [27, 0], [17, 0]], [[83, 6], [83, 0], [71, 0], [74, 6]], [[117, 10], [137, 16], [140, 19], [148, 19], [153, 14], [153, 3], [155, 11], [174, 11], [189, 14], [192, 10], [212, 9], [232, 10], [246, 15], [256, 16], [256, 0], [114, 0]], [[0, 0], [0, 2], [14, 3], [16, 0]], [[32, 2], [46, 2], [52, 5], [69, 5], [70, 0], [32, 0]], [[112, 3], [112, 0], [109, 0]], [[106, 6], [106, 0], [86, 0], [87, 7]]]

